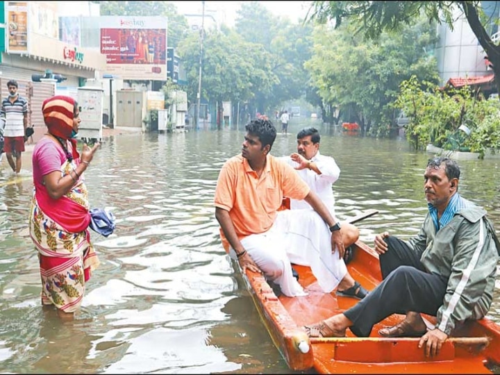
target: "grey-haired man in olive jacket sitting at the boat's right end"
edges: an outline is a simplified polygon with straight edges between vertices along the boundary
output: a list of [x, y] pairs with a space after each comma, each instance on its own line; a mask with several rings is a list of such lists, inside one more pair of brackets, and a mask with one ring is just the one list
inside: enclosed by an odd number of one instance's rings
[[[342, 314], [306, 326], [310, 337], [342, 337], [349, 327], [368, 336], [374, 324], [393, 313], [406, 314], [385, 337], [419, 336], [427, 356], [439, 353], [453, 328], [481, 319], [490, 309], [500, 243], [486, 211], [458, 194], [460, 169], [449, 158], [428, 161], [424, 193], [428, 213], [418, 235], [408, 241], [376, 235], [383, 281]], [[435, 315], [428, 328], [420, 313]]]

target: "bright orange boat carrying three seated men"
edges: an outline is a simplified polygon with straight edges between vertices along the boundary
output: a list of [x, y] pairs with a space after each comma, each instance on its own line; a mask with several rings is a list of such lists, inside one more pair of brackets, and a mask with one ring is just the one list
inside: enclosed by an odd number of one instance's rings
[[[373, 213], [349, 222], [369, 215]], [[347, 267], [356, 280], [372, 290], [382, 280], [378, 254], [361, 241], [355, 247]], [[418, 349], [419, 338], [378, 335], [378, 329], [403, 319], [397, 314], [376, 324], [369, 338], [357, 338], [349, 329], [345, 338], [308, 338], [304, 325], [347, 310], [358, 300], [324, 293], [309, 267], [294, 265], [294, 269], [308, 292], [305, 297], [276, 297], [260, 274], [247, 271], [243, 277], [269, 335], [291, 370], [318, 374], [500, 374], [500, 326], [487, 318], [453, 331], [433, 358], [426, 358], [424, 349]], [[435, 323], [435, 317], [425, 315], [424, 319]]]

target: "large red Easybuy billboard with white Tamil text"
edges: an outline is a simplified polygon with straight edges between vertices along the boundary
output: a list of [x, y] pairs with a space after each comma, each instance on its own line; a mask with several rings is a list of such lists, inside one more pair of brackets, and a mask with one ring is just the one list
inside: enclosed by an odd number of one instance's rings
[[100, 17], [106, 73], [122, 79], [167, 80], [167, 18]]

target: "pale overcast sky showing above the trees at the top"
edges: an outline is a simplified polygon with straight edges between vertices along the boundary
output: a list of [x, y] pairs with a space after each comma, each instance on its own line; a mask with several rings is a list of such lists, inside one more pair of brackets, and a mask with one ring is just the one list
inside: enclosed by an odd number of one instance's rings
[[[234, 26], [236, 11], [240, 9], [241, 3], [245, 1], [205, 1], [205, 10], [217, 10], [225, 13], [226, 24]], [[249, 1], [246, 1], [249, 2]], [[172, 1], [178, 12], [201, 14], [202, 1]], [[300, 17], [306, 16], [308, 3], [310, 1], [258, 1], [274, 15], [289, 17], [290, 21], [296, 22]]]

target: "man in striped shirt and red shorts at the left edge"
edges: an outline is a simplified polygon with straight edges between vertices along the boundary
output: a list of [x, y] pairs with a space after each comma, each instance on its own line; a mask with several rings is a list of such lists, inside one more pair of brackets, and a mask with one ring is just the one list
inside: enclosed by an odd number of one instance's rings
[[9, 96], [3, 99], [0, 108], [0, 119], [5, 122], [3, 151], [12, 171], [19, 173], [26, 140], [24, 134], [28, 126], [28, 102], [17, 93], [16, 81], [8, 81], [7, 88]]

